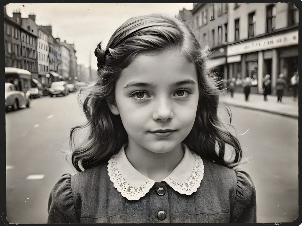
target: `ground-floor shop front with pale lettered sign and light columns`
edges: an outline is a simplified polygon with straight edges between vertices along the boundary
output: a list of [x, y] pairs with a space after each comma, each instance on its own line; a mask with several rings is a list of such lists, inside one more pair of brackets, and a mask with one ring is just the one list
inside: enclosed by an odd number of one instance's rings
[[275, 95], [279, 74], [283, 73], [289, 83], [291, 76], [298, 70], [298, 30], [227, 46], [226, 55], [229, 76], [236, 78], [237, 85], [245, 77], [250, 77], [251, 93], [261, 93], [263, 78], [269, 74], [272, 94]]

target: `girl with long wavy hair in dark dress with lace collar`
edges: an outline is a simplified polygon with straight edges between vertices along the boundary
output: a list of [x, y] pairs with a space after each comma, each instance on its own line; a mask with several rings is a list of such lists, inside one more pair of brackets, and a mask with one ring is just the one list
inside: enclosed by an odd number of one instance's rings
[[99, 43], [88, 121], [70, 139], [73, 165], [85, 170], [54, 186], [49, 223], [256, 221], [252, 180], [231, 168], [242, 151], [217, 117], [207, 53], [181, 20], [160, 14], [131, 18]]

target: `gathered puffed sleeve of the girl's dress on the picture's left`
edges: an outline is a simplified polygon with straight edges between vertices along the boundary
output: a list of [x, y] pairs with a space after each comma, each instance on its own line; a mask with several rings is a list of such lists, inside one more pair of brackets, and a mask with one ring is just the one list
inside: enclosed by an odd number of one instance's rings
[[47, 223], [80, 223], [71, 191], [71, 175], [64, 174], [53, 187], [48, 201]]

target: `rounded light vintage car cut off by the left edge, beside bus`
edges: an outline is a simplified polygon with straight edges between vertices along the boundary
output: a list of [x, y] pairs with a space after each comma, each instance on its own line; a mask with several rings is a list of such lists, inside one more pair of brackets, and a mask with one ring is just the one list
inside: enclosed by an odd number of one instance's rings
[[5, 83], [5, 107], [6, 110], [9, 108], [14, 111], [17, 110], [21, 105], [26, 105], [29, 108], [31, 95], [27, 92], [24, 94], [22, 91], [16, 90], [16, 87], [12, 83]]

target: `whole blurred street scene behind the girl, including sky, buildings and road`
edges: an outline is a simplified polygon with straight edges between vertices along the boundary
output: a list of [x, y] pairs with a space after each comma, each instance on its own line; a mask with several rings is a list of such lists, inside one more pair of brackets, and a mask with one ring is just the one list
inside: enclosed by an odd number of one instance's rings
[[[298, 217], [298, 9], [292, 3], [8, 4], [4, 7], [6, 188], [9, 223], [46, 223], [51, 189], [83, 122], [78, 89], [97, 75], [94, 49], [130, 17], [184, 20], [224, 79], [252, 177], [258, 222]], [[266, 75], [269, 77], [265, 77]], [[280, 76], [280, 74], [282, 74]], [[282, 102], [280, 99], [282, 90]], [[263, 93], [267, 94], [267, 99]], [[279, 94], [279, 95], [278, 95]]]

